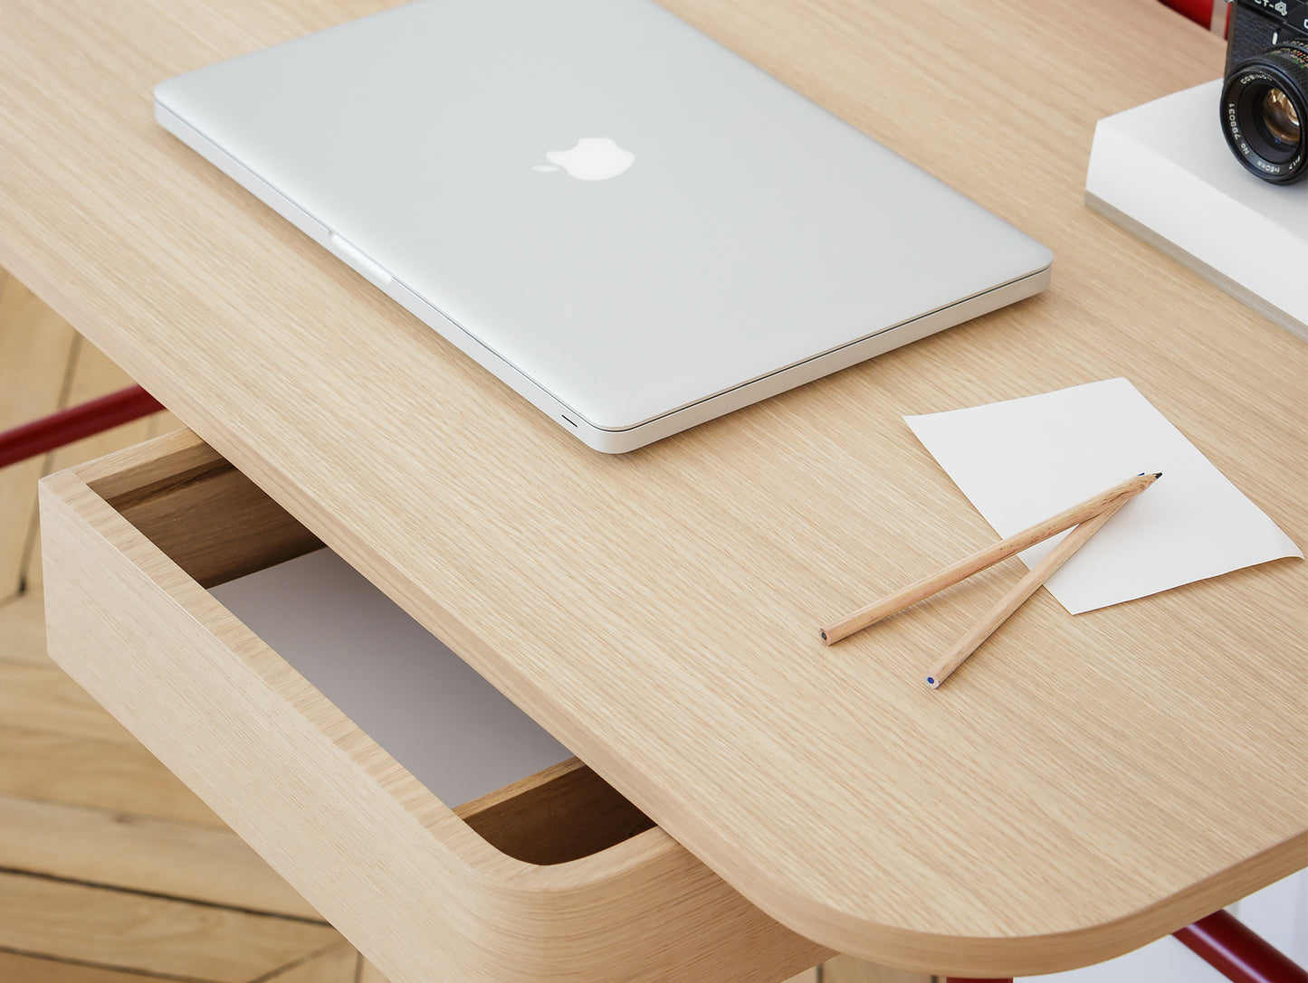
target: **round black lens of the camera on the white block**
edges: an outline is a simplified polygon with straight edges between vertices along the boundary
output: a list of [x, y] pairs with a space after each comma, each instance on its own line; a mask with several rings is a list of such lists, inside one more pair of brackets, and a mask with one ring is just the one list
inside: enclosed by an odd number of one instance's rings
[[1308, 42], [1245, 59], [1222, 89], [1222, 128], [1236, 158], [1275, 184], [1308, 176]]

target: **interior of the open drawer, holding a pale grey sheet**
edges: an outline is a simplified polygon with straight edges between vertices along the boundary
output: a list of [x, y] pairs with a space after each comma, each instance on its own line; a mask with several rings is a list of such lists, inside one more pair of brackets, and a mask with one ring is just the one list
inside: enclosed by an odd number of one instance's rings
[[225, 460], [92, 489], [492, 846], [590, 856], [654, 824]]

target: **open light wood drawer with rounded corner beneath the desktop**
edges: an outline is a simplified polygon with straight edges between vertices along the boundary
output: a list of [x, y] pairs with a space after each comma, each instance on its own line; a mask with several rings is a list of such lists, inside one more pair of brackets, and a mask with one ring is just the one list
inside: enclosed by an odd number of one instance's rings
[[[51, 655], [392, 983], [764, 983], [829, 956], [574, 759], [442, 803], [209, 592], [320, 544], [194, 434], [52, 475], [41, 507]], [[361, 678], [385, 702], [394, 676]]]

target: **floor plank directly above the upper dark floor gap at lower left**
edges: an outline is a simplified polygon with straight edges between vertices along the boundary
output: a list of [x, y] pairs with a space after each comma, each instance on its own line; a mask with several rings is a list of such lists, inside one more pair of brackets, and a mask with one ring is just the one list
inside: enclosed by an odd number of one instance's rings
[[319, 919], [235, 833], [0, 796], [0, 868]]

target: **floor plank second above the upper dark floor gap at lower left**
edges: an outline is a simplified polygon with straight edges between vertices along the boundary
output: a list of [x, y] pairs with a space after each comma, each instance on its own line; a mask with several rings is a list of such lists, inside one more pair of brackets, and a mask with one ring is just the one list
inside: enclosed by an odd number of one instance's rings
[[0, 795], [226, 829], [140, 745], [0, 724]]

